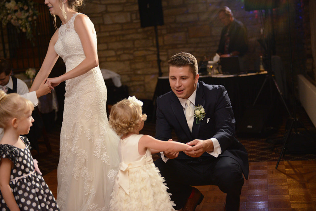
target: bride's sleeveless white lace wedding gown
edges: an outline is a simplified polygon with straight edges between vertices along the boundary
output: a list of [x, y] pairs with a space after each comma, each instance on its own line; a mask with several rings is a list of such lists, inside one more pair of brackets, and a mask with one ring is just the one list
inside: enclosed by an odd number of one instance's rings
[[[55, 44], [66, 72], [85, 59], [74, 29], [77, 15], [59, 28]], [[97, 41], [95, 32], [94, 41]], [[119, 137], [108, 124], [106, 86], [99, 66], [67, 80], [65, 90], [57, 203], [64, 211], [108, 210], [118, 172]]]

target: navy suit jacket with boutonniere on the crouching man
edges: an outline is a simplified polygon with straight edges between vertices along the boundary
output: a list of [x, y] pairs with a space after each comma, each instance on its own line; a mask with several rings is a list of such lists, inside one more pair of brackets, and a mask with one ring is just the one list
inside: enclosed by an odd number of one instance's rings
[[[183, 107], [177, 96], [168, 92], [157, 98], [156, 135], [159, 140], [171, 139], [174, 129], [178, 141], [187, 143], [194, 139], [206, 140], [216, 138], [222, 153], [218, 156], [234, 158], [242, 167], [248, 178], [248, 154], [245, 147], [234, 137], [235, 119], [226, 89], [222, 85], [208, 85], [198, 81], [195, 106], [202, 105], [205, 117], [199, 124], [193, 122], [192, 132], [185, 119]], [[204, 152], [202, 156], [213, 157]], [[175, 159], [196, 159], [179, 152]]]

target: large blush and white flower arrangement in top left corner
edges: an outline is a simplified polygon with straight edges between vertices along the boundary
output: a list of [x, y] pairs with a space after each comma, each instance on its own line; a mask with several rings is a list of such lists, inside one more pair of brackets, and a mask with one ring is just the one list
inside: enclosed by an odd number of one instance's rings
[[1, 0], [0, 19], [3, 25], [10, 22], [18, 32], [26, 33], [27, 39], [32, 40], [32, 25], [39, 12], [34, 7], [35, 2], [28, 0]]

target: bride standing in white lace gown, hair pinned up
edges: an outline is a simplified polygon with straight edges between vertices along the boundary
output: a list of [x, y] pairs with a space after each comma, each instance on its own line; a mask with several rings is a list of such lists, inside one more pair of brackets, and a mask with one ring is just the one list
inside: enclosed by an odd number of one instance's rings
[[107, 210], [119, 164], [119, 137], [108, 125], [106, 86], [98, 65], [94, 25], [88, 16], [76, 12], [82, 3], [45, 0], [62, 25], [52, 36], [30, 89], [37, 90], [58, 57], [63, 58], [66, 73], [47, 78], [46, 83], [53, 89], [66, 81], [57, 203], [67, 211]]

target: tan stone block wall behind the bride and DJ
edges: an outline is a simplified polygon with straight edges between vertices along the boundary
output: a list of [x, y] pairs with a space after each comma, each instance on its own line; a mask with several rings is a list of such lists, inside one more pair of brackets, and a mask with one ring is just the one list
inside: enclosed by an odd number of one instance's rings
[[[164, 24], [158, 26], [157, 31], [163, 76], [168, 74], [167, 60], [175, 53], [192, 53], [198, 61], [204, 57], [211, 59], [215, 55], [223, 27], [217, 12], [223, 6], [228, 6], [248, 31], [246, 69], [254, 69], [254, 64], [264, 53], [257, 40], [263, 38], [273, 25], [276, 55], [283, 61], [288, 83], [291, 84], [292, 75], [290, 52], [294, 57], [294, 74], [315, 78], [312, 55], [315, 58], [315, 33], [311, 31], [311, 28], [315, 28], [315, 21], [310, 12], [315, 5], [310, 0], [289, 0], [290, 50], [287, 2], [280, 0], [280, 6], [273, 10], [273, 24], [265, 25], [262, 19], [264, 11], [245, 11], [244, 0], [162, 0]], [[138, 1], [86, 0], [82, 12], [94, 22], [100, 67], [119, 73], [122, 83], [129, 87], [130, 95], [152, 99], [158, 77], [155, 29], [153, 26], [141, 28]], [[263, 34], [260, 33], [261, 29]], [[8, 57], [5, 26], [2, 35]], [[4, 57], [2, 49], [1, 58]]]

